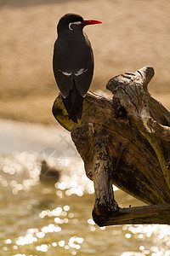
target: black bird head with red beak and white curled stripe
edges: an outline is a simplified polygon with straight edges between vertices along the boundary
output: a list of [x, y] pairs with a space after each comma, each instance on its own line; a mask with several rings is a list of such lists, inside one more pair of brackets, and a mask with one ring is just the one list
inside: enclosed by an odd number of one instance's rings
[[58, 32], [64, 30], [71, 32], [82, 31], [84, 26], [101, 23], [99, 20], [84, 20], [81, 15], [67, 14], [60, 18], [57, 30]]

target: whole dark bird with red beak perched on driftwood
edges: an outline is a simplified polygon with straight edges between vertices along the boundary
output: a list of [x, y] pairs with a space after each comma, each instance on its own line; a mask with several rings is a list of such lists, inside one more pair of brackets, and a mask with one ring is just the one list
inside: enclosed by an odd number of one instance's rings
[[99, 20], [83, 20], [82, 16], [67, 14], [57, 26], [54, 44], [54, 77], [59, 86], [69, 119], [77, 123], [82, 118], [82, 102], [94, 74], [94, 54], [84, 26], [100, 24]]

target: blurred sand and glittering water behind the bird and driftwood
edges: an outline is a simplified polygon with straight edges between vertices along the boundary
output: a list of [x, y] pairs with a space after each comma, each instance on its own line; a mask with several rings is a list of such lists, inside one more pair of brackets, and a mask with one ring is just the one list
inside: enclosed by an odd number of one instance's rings
[[[0, 0], [0, 254], [168, 256], [168, 225], [100, 229], [92, 220], [93, 183], [51, 113], [56, 25], [69, 12], [103, 22], [84, 29], [94, 49], [90, 90], [111, 97], [109, 79], [151, 66], [149, 91], [170, 108], [168, 0]], [[52, 183], [41, 179], [42, 160], [59, 171]], [[144, 205], [120, 190], [116, 201]]]

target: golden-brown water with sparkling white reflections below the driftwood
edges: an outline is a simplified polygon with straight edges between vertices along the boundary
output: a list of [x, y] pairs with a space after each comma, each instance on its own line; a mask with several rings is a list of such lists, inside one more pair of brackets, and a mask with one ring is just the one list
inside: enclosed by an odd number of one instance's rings
[[[168, 225], [99, 228], [91, 218], [94, 184], [82, 161], [74, 156], [59, 165], [59, 181], [41, 183], [37, 154], [0, 156], [0, 255], [170, 255]], [[120, 190], [116, 200], [139, 204]]]

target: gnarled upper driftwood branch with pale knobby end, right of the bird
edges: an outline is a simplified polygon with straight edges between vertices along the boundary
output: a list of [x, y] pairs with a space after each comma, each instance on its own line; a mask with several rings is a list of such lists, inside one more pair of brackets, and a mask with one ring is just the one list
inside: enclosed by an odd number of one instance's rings
[[[152, 108], [155, 108], [155, 106], [149, 108], [149, 104], [153, 101], [148, 93], [147, 84], [153, 75], [152, 67], [144, 67], [135, 73], [126, 73], [111, 79], [106, 87], [115, 94], [113, 101], [126, 110], [127, 118], [139, 129], [142, 135], [147, 136], [147, 140], [156, 152], [161, 171], [165, 175], [167, 185], [170, 188], [170, 172], [167, 170], [167, 162], [164, 157], [166, 143], [170, 142], [170, 127], [167, 126], [170, 120], [168, 115], [162, 115], [164, 118], [162, 119], [160, 114], [158, 121], [157, 113], [152, 113]], [[154, 100], [154, 102], [156, 101]], [[157, 106], [154, 111], [159, 110], [160, 112], [162, 108], [164, 107], [161, 106], [160, 109]], [[161, 125], [161, 123], [165, 125]], [[166, 143], [162, 147], [164, 140]]]

